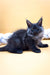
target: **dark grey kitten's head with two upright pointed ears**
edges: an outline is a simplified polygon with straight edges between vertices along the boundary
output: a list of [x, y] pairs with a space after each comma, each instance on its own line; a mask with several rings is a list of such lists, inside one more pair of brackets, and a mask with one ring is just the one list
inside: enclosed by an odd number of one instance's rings
[[38, 36], [41, 32], [43, 32], [43, 27], [42, 27], [42, 18], [40, 20], [33, 24], [29, 20], [26, 20], [28, 29], [27, 29], [27, 34], [28, 36], [35, 37]]

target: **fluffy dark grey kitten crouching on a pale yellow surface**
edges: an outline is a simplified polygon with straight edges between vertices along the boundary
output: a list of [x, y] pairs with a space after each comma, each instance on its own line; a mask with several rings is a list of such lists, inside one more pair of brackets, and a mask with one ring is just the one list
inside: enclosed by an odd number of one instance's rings
[[[33, 24], [26, 20], [28, 28], [18, 30], [8, 39], [5, 47], [1, 47], [0, 51], [8, 51], [11, 53], [22, 53], [24, 50], [31, 49], [35, 53], [40, 53], [38, 47], [48, 47], [48, 44], [42, 44], [44, 29], [42, 27], [42, 18]], [[38, 46], [38, 47], [37, 47]]]

